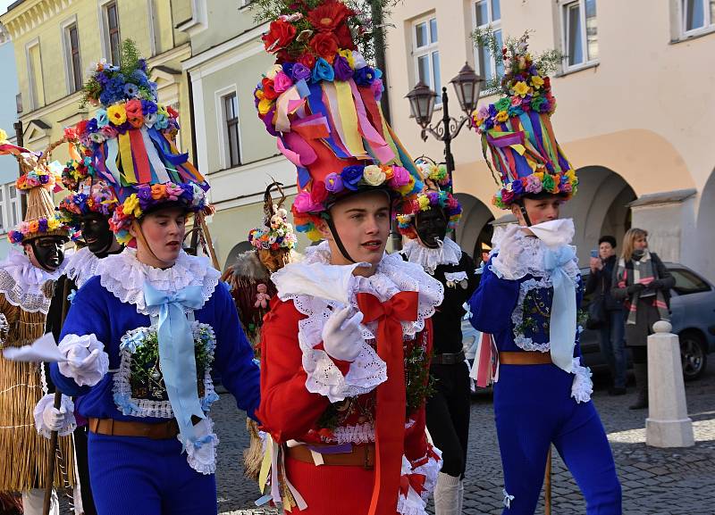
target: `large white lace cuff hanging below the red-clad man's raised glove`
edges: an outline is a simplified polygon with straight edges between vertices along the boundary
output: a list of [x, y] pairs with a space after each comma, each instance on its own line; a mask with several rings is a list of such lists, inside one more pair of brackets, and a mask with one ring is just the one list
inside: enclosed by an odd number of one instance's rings
[[323, 341], [323, 324], [315, 322], [311, 318], [300, 320], [298, 330], [308, 392], [324, 395], [331, 403], [337, 403], [347, 397], [367, 394], [387, 380], [387, 364], [365, 340], [360, 344], [356, 360], [350, 363], [348, 374], [343, 376], [328, 353], [315, 348]]

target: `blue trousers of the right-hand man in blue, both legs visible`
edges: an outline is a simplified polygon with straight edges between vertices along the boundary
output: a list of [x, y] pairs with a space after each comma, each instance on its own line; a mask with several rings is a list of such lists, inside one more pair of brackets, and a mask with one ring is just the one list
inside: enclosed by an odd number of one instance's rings
[[494, 415], [510, 498], [503, 515], [533, 515], [551, 444], [584, 494], [587, 515], [620, 515], [621, 489], [593, 403], [571, 398], [574, 376], [554, 365], [501, 365]]

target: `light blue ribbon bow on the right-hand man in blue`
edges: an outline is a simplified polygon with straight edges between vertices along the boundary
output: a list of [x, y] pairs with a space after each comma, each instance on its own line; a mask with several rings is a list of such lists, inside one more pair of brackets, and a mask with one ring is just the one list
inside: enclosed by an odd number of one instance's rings
[[544, 268], [551, 272], [553, 299], [551, 300], [551, 320], [549, 341], [551, 361], [559, 369], [571, 372], [574, 361], [574, 336], [576, 335], [576, 283], [566, 273], [564, 267], [575, 257], [570, 245], [547, 250], [544, 254]]

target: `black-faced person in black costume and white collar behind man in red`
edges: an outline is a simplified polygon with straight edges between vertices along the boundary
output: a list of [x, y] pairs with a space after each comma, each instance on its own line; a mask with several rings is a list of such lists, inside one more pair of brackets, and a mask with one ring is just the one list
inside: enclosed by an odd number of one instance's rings
[[467, 438], [471, 411], [471, 379], [462, 350], [462, 307], [477, 286], [475, 263], [447, 231], [461, 216], [458, 200], [450, 194], [445, 167], [429, 160], [417, 162], [425, 190], [400, 206], [398, 228], [408, 238], [401, 253], [405, 261], [420, 265], [442, 283], [444, 300], [435, 311], [433, 358], [430, 376], [434, 395], [427, 400], [427, 428], [442, 450], [442, 470], [434, 489], [437, 515], [461, 513]]

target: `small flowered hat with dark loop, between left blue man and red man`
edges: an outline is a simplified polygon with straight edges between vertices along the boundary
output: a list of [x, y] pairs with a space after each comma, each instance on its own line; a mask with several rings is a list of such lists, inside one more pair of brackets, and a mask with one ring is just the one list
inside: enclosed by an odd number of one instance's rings
[[[281, 193], [277, 204], [273, 204], [273, 188]], [[288, 212], [283, 208], [284, 201], [281, 183], [273, 182], [265, 188], [263, 227], [252, 228], [248, 232], [248, 242], [257, 250], [288, 253], [298, 243], [293, 226], [288, 222]]]

